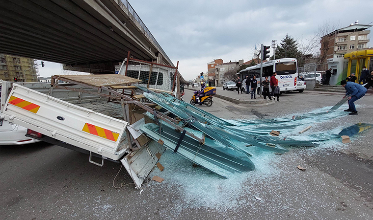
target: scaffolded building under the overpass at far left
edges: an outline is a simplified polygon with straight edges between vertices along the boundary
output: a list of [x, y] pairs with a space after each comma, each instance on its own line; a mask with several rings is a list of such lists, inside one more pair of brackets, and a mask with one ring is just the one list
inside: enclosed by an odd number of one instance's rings
[[36, 60], [0, 54], [0, 79], [13, 82], [38, 82]]

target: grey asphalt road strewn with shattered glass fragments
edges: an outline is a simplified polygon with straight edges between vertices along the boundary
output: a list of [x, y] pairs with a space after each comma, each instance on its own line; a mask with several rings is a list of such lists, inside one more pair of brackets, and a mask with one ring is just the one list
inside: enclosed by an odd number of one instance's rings
[[[184, 100], [192, 92], [186, 90]], [[333, 106], [343, 94], [305, 91], [266, 106], [214, 98], [201, 109], [225, 119], [290, 117]], [[373, 96], [357, 101], [358, 115], [315, 121], [308, 133], [358, 122], [373, 124]], [[345, 107], [346, 108], [346, 107]], [[373, 219], [373, 129], [349, 144], [328, 141], [287, 154], [253, 157], [257, 170], [223, 179], [166, 151], [143, 191], [120, 164], [98, 167], [88, 155], [46, 143], [0, 147], [0, 219]], [[300, 171], [296, 166], [306, 168]]]

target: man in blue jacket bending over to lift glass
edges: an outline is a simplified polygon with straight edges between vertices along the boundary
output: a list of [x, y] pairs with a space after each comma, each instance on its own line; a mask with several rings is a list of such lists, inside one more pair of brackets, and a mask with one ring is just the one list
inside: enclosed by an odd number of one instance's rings
[[[341, 81], [341, 85], [346, 88], [346, 95], [351, 95], [348, 97], [348, 109], [345, 111], [351, 111], [349, 115], [357, 114], [354, 102], [358, 99], [361, 99], [367, 92], [367, 88], [352, 82], [346, 82], [346, 80]], [[346, 96], [344, 96], [345, 98]]]

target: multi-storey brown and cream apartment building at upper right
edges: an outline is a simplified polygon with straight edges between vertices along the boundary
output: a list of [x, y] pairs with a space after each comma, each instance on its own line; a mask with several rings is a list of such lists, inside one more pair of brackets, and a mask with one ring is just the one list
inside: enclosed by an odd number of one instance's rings
[[355, 22], [321, 37], [320, 62], [330, 58], [343, 58], [346, 53], [367, 49], [372, 25]]

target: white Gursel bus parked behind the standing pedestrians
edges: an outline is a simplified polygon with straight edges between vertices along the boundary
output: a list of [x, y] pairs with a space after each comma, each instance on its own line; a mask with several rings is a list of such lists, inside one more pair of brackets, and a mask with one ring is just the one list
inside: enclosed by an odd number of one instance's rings
[[[277, 60], [271, 60], [263, 63], [263, 78], [268, 76], [268, 80], [274, 72], [277, 72], [278, 86], [280, 87], [280, 92], [285, 91], [294, 91], [296, 90], [296, 80], [298, 77], [298, 68], [297, 61], [295, 58], [282, 58]], [[260, 64], [256, 66], [250, 66], [245, 69], [242, 69], [239, 73], [236, 74], [240, 76], [240, 79], [245, 79], [246, 76], [253, 78], [256, 76], [258, 80], [258, 91], [260, 88]]]

